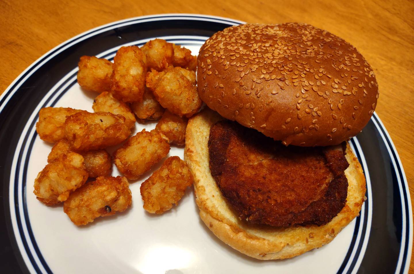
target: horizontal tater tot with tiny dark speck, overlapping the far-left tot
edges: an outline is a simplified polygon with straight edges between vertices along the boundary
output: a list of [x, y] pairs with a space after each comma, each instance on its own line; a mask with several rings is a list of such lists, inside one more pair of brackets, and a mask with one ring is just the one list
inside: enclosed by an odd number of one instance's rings
[[104, 149], [120, 144], [131, 134], [125, 117], [109, 112], [82, 111], [65, 121], [65, 136], [79, 151]]

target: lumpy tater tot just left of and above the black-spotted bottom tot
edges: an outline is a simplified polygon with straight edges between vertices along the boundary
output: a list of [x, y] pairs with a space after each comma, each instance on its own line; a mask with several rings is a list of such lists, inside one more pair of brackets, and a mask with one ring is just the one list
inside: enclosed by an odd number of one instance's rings
[[34, 180], [33, 193], [43, 204], [58, 204], [65, 201], [87, 179], [82, 155], [69, 152], [58, 156], [39, 172]]

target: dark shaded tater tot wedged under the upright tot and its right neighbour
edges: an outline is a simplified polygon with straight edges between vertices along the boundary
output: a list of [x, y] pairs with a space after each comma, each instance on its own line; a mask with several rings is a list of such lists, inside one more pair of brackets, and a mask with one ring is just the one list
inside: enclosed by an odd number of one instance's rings
[[159, 120], [165, 110], [148, 88], [145, 89], [141, 102], [131, 103], [131, 109], [140, 120]]

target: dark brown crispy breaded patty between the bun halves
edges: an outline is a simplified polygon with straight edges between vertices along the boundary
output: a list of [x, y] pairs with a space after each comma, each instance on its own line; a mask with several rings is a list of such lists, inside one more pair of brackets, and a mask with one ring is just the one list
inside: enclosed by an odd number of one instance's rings
[[209, 136], [213, 178], [236, 214], [253, 224], [326, 224], [344, 207], [349, 166], [340, 147], [285, 147], [236, 122]]

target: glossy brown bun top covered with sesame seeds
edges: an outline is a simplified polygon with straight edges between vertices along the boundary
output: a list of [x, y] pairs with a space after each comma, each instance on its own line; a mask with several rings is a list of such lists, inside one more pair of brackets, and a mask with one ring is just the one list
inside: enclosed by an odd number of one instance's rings
[[202, 100], [221, 116], [285, 145], [339, 144], [371, 118], [378, 84], [354, 46], [308, 24], [244, 24], [198, 55]]

